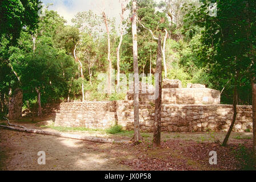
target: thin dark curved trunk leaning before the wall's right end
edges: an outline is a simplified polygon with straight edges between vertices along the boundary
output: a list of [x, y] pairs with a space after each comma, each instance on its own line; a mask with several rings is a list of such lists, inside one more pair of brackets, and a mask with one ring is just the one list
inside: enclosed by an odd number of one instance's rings
[[231, 125], [229, 127], [229, 131], [227, 131], [226, 137], [223, 140], [222, 146], [226, 146], [227, 140], [229, 140], [229, 136], [230, 136], [231, 131], [232, 131], [233, 127], [234, 127], [235, 119], [237, 119], [237, 101], [238, 101], [237, 79], [238, 79], [238, 77], [236, 77], [235, 79], [236, 80], [235, 80], [234, 95], [233, 95], [233, 112], [234, 112], [233, 120], [232, 120]]

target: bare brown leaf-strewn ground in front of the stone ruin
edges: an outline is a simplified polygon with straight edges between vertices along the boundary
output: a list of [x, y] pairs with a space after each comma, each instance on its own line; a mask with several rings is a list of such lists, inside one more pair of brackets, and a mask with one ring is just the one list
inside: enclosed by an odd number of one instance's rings
[[[53, 130], [39, 127], [34, 122], [13, 123], [34, 129]], [[131, 137], [97, 131], [78, 131], [75, 134], [114, 139]], [[133, 146], [29, 134], [0, 127], [0, 170], [254, 169], [250, 158], [252, 133], [232, 133], [227, 147], [213, 142], [222, 141], [223, 137], [225, 133], [163, 133], [161, 147], [153, 148], [151, 133], [145, 134], [143, 143]], [[212, 150], [217, 152], [217, 165], [209, 164], [209, 152]], [[38, 151], [46, 152], [45, 165], [37, 163]]]

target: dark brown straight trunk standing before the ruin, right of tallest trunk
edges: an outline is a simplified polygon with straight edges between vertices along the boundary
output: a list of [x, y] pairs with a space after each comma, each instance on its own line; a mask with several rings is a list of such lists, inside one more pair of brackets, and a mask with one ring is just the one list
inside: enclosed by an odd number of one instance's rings
[[[155, 82], [155, 121], [154, 121], [154, 138], [153, 147], [161, 145], [161, 106], [162, 106], [162, 53], [161, 53], [161, 36], [158, 38], [157, 48], [157, 69], [158, 80]], [[158, 92], [158, 94], [157, 94]]]

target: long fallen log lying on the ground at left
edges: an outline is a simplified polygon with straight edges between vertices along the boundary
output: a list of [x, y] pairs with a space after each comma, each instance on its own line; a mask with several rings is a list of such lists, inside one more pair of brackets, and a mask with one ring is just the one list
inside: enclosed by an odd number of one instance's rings
[[116, 141], [114, 139], [106, 139], [106, 138], [100, 138], [100, 137], [88, 137], [88, 136], [81, 136], [81, 135], [75, 135], [75, 134], [68, 134], [68, 133], [61, 133], [58, 131], [45, 131], [45, 130], [37, 130], [37, 129], [28, 129], [24, 126], [19, 127], [12, 127], [12, 126], [4, 126], [0, 125], [0, 127], [4, 127], [6, 129], [16, 130], [16, 131], [23, 131], [26, 133], [37, 133], [42, 135], [52, 135], [55, 137], [63, 137], [63, 138], [71, 138], [71, 139], [78, 139], [78, 140], [86, 140], [90, 142], [97, 142], [97, 143], [127, 143], [129, 141]]

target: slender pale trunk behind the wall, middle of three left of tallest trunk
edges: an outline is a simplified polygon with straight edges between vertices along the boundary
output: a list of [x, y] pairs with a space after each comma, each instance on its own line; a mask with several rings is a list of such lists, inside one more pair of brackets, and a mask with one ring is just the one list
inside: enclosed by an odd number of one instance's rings
[[111, 77], [112, 77], [112, 63], [110, 60], [110, 33], [109, 33], [109, 26], [107, 24], [107, 16], [105, 12], [102, 12], [102, 16], [105, 22], [106, 31], [107, 31], [107, 61], [109, 61], [109, 78], [107, 84], [107, 94], [110, 96], [111, 94]]

